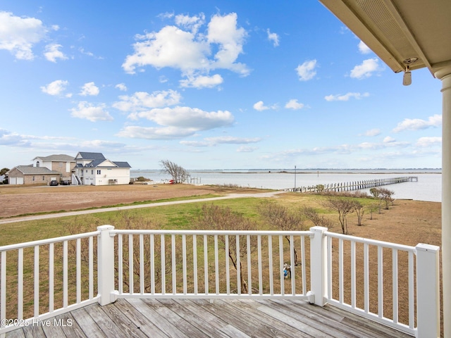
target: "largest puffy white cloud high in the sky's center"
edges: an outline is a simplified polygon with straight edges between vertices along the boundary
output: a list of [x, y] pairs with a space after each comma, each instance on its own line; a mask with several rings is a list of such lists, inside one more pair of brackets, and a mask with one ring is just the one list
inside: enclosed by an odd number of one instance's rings
[[[237, 57], [242, 54], [242, 45], [247, 36], [242, 27], [237, 27], [236, 13], [214, 15], [206, 32], [198, 33], [194, 25], [202, 24], [202, 16], [187, 17], [178, 15], [176, 23], [180, 27], [167, 25], [159, 32], [137, 35], [133, 44], [134, 53], [128, 55], [122, 65], [126, 73], [135, 73], [137, 67], [152, 65], [155, 68], [171, 67], [181, 70], [183, 75], [208, 73], [222, 68], [247, 75], [249, 70]], [[211, 50], [217, 49], [211, 56]]]

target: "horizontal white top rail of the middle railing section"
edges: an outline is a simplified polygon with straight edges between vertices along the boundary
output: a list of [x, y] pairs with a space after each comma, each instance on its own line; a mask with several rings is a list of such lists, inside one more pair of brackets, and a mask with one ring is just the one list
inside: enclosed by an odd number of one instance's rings
[[206, 235], [271, 235], [271, 236], [309, 236], [311, 231], [262, 231], [262, 230], [111, 230], [111, 234], [196, 234]]

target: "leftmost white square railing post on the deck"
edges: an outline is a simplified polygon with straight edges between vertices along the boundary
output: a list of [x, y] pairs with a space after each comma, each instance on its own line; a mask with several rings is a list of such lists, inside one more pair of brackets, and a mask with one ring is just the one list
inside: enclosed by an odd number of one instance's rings
[[97, 240], [97, 288], [99, 303], [104, 306], [116, 301], [114, 291], [114, 235], [113, 225], [101, 225]]

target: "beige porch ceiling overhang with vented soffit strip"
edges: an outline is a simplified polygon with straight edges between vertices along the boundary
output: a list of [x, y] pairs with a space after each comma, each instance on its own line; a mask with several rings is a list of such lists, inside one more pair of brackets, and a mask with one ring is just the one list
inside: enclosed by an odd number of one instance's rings
[[451, 65], [450, 0], [319, 1], [395, 73]]

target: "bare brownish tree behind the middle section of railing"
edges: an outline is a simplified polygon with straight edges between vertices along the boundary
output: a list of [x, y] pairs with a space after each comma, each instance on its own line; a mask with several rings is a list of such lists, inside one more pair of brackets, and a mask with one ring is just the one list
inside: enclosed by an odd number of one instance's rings
[[[202, 206], [202, 213], [194, 218], [194, 226], [202, 230], [257, 230], [257, 225], [245, 218], [239, 213], [234, 213], [230, 208], [215, 206], [214, 204], [204, 204]], [[226, 236], [218, 236], [218, 241], [221, 242], [222, 248], [226, 249]], [[257, 248], [257, 237], [250, 236], [249, 250], [252, 252]], [[240, 266], [237, 266], [237, 239], [236, 236], [228, 238], [228, 256], [232, 261], [235, 270], [240, 269], [240, 284], [241, 293], [247, 294], [249, 292], [245, 275], [242, 272], [242, 261], [247, 255], [247, 240], [245, 236], [240, 238], [238, 245], [240, 255]], [[252, 287], [252, 286], [251, 286]]]

